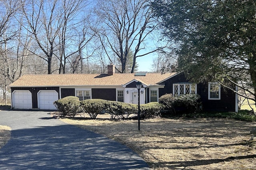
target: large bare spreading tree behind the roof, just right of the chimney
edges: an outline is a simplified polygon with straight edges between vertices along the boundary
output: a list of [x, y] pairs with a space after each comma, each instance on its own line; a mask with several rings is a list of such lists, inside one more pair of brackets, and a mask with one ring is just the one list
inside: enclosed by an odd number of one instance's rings
[[142, 52], [148, 40], [155, 34], [156, 20], [148, 6], [148, 0], [98, 0], [95, 13], [99, 18], [99, 27], [95, 29], [104, 46], [108, 58], [112, 62], [111, 53], [118, 56], [122, 70], [126, 70], [129, 50], [134, 52], [131, 72], [134, 72], [136, 58], [162, 49]]

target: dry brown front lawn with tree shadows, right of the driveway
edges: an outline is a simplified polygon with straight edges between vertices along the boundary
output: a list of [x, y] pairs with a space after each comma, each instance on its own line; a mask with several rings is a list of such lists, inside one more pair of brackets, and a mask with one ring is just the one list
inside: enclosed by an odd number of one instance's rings
[[[101, 116], [101, 115], [100, 115]], [[254, 122], [229, 119], [61, 119], [112, 138], [137, 152], [153, 170], [256, 170], [248, 144]]]

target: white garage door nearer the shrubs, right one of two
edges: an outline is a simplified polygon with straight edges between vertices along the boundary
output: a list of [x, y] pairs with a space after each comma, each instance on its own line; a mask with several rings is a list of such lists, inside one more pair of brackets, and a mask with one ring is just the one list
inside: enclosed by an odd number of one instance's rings
[[55, 90], [40, 90], [38, 92], [38, 108], [46, 110], [57, 110], [53, 102], [58, 100]]

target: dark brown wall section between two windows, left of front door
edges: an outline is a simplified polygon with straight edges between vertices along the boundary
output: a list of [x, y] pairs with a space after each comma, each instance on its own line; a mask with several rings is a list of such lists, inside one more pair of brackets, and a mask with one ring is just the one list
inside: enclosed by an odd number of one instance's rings
[[116, 101], [116, 89], [115, 88], [92, 88], [92, 98]]

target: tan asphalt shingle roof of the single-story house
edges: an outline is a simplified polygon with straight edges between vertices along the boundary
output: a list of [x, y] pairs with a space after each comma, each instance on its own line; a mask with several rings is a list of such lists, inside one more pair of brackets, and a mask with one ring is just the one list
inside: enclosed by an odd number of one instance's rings
[[121, 86], [134, 79], [147, 85], [154, 85], [176, 73], [147, 73], [146, 76], [126, 74], [29, 74], [23, 75], [10, 84], [10, 87], [39, 86]]

